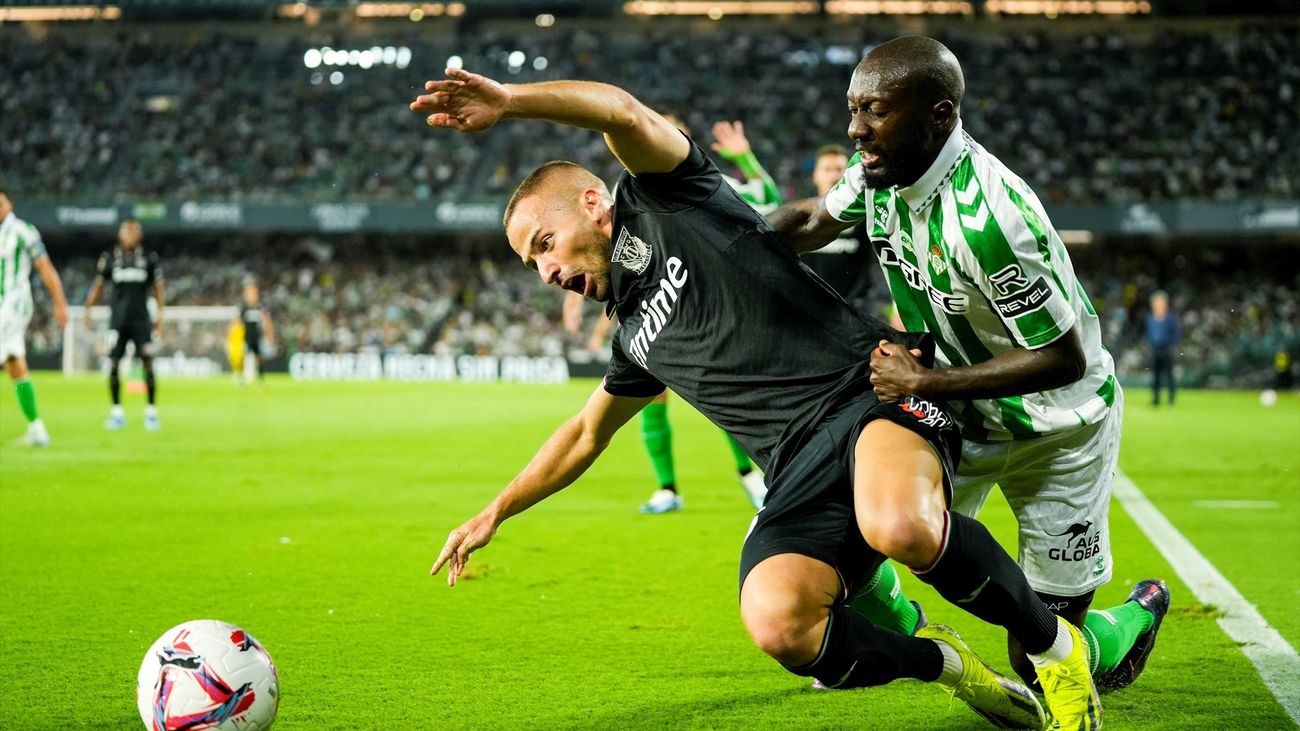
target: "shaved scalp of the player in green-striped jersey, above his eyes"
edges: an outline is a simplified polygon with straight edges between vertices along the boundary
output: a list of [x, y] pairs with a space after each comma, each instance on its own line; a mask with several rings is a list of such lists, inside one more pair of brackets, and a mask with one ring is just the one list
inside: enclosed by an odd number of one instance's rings
[[872, 86], [889, 88], [926, 104], [952, 101], [959, 108], [966, 78], [957, 56], [946, 46], [924, 35], [907, 35], [881, 43], [858, 64], [854, 77], [868, 77]]

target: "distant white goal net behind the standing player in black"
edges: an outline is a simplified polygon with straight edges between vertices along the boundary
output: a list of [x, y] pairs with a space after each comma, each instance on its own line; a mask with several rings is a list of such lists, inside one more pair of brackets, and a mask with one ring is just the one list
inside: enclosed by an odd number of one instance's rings
[[[150, 304], [153, 304], [152, 300]], [[152, 311], [152, 308], [151, 308]], [[230, 369], [226, 341], [237, 307], [168, 307], [162, 316], [162, 333], [153, 333], [153, 369], [159, 377], [207, 377]], [[108, 328], [108, 307], [68, 308], [64, 328], [64, 375], [101, 372], [109, 368], [108, 352], [117, 333]], [[122, 366], [130, 373], [135, 360], [133, 346], [126, 346]]]

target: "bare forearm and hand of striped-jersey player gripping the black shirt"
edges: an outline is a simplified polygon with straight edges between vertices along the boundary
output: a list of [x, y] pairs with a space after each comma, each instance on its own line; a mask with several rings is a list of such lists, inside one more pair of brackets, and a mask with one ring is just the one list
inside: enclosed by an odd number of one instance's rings
[[[900, 358], [894, 352], [885, 360]], [[901, 362], [896, 362], [901, 363]], [[889, 363], [894, 366], [896, 363]], [[889, 368], [872, 358], [874, 377]], [[900, 393], [944, 399], [1002, 398], [1067, 386], [1083, 377], [1087, 356], [1074, 330], [1037, 350], [1015, 349], [974, 366], [916, 368], [893, 373], [887, 384]], [[878, 394], [881, 384], [878, 382]]]

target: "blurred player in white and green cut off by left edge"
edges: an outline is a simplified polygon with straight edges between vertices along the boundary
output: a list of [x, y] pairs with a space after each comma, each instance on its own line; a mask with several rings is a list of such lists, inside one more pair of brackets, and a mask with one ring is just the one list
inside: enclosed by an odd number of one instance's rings
[[27, 323], [31, 320], [31, 269], [36, 268], [55, 304], [55, 321], [68, 324], [68, 300], [58, 272], [49, 261], [40, 232], [13, 213], [9, 195], [0, 190], [0, 360], [13, 379], [27, 433], [18, 444], [49, 446], [49, 433], [36, 411], [36, 390], [27, 375]]

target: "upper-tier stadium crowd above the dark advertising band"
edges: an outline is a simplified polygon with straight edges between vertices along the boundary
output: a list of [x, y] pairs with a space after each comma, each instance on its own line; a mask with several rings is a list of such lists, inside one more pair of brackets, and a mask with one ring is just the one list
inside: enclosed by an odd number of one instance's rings
[[[642, 26], [122, 33], [0, 27], [0, 169], [20, 198], [473, 199], [572, 159], [614, 177], [601, 140], [525, 125], [430, 134], [407, 101], [458, 56], [507, 81], [636, 90], [697, 134], [744, 120], [784, 185], [845, 140], [844, 91], [890, 29]], [[1294, 25], [1209, 31], [937, 33], [967, 69], [967, 129], [1048, 202], [1300, 195]], [[311, 48], [410, 49], [408, 64], [304, 65]], [[335, 85], [334, 81], [338, 81]], [[51, 95], [51, 88], [75, 92]], [[1158, 130], [1158, 134], [1150, 134]]]

